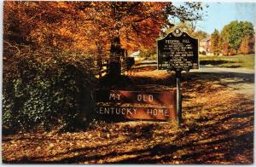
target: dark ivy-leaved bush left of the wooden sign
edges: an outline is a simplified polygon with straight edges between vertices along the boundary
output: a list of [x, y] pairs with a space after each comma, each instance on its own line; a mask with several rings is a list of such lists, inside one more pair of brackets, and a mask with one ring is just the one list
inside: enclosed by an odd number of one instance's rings
[[[9, 52], [10, 53], [10, 52]], [[93, 59], [54, 49], [3, 56], [3, 130], [75, 130], [93, 112]]]

